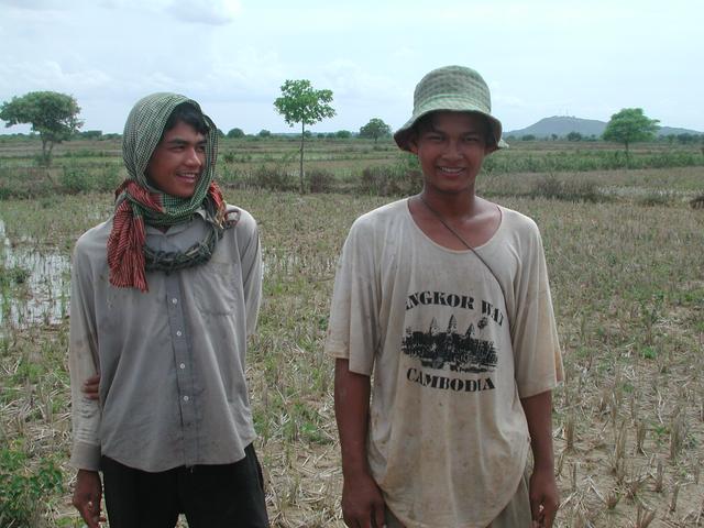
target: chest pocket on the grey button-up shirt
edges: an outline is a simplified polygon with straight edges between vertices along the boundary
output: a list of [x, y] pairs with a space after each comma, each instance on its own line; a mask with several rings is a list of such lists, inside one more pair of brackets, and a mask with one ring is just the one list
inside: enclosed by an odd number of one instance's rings
[[242, 270], [239, 263], [211, 260], [194, 268], [194, 298], [207, 316], [231, 316], [242, 302]]

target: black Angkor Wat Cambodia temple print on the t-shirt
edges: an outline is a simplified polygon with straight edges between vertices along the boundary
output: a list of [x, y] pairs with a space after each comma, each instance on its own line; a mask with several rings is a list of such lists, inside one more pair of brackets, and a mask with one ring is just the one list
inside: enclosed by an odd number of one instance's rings
[[[468, 328], [458, 328], [458, 319], [450, 315], [447, 327], [444, 321], [432, 318], [429, 327], [407, 327], [402, 340], [402, 352], [420, 362], [421, 367], [461, 373], [492, 373], [498, 363], [498, 353], [493, 332], [484, 331], [490, 323], [503, 326], [504, 315], [491, 302], [479, 304], [470, 295], [447, 294], [443, 292], [417, 292], [408, 296], [406, 310], [426, 305], [449, 306], [458, 310], [481, 310], [479, 320], [470, 322]], [[435, 308], [430, 308], [435, 309]], [[427, 320], [427, 319], [426, 319]], [[466, 320], [462, 317], [462, 320]], [[475, 392], [494, 388], [491, 377], [482, 380], [454, 378], [428, 374], [421, 369], [411, 367], [408, 380], [432, 388], [451, 388], [461, 392]]]

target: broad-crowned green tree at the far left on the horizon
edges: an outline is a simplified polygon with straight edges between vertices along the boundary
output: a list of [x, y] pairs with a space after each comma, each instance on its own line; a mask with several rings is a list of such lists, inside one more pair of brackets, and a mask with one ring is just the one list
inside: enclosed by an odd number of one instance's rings
[[29, 123], [42, 140], [42, 163], [52, 164], [52, 150], [56, 143], [69, 140], [82, 127], [78, 120], [80, 108], [72, 96], [56, 91], [31, 91], [13, 97], [0, 107], [0, 119], [6, 127]]

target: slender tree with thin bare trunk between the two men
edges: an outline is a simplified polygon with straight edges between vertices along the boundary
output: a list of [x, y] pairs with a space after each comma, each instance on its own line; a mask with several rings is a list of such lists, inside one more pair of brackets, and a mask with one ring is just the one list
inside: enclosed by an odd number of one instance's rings
[[334, 116], [332, 90], [315, 90], [308, 79], [286, 80], [282, 86], [282, 97], [274, 101], [276, 111], [284, 116], [289, 127], [300, 123], [300, 193], [304, 189], [304, 146], [306, 125], [315, 124]]

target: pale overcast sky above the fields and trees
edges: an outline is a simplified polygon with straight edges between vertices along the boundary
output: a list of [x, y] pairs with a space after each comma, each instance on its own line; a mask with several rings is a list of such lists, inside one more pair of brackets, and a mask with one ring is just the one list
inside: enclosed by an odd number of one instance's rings
[[70, 94], [84, 130], [107, 133], [141, 97], [177, 91], [226, 132], [286, 132], [273, 101], [305, 78], [337, 110], [314, 132], [396, 129], [418, 80], [461, 64], [504, 130], [641, 107], [704, 131], [702, 21], [702, 0], [0, 0], [0, 102]]

